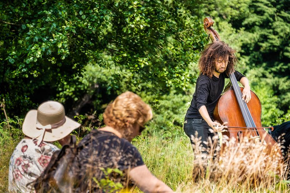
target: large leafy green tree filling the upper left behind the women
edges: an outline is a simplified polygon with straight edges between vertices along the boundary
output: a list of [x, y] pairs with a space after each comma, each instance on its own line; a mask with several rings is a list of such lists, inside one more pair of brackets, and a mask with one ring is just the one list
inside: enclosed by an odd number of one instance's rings
[[187, 90], [188, 65], [207, 43], [183, 1], [2, 1], [0, 11], [0, 93], [11, 113], [77, 84], [88, 63], [120, 70], [108, 89]]

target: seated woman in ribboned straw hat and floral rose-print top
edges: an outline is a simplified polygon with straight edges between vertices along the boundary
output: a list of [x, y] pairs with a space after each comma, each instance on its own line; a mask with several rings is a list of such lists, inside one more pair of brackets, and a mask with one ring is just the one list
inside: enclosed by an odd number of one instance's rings
[[34, 192], [33, 182], [49, 163], [53, 152], [59, 150], [49, 142], [61, 145], [70, 140], [70, 133], [80, 124], [65, 116], [57, 101], [47, 101], [37, 110], [30, 110], [24, 119], [25, 137], [18, 143], [9, 163], [9, 192]]

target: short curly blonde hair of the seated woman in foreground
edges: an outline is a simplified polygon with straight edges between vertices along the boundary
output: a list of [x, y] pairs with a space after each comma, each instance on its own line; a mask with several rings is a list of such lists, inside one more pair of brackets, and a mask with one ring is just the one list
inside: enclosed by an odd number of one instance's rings
[[125, 134], [134, 123], [143, 126], [152, 119], [152, 110], [137, 94], [127, 91], [110, 103], [104, 112], [104, 123]]

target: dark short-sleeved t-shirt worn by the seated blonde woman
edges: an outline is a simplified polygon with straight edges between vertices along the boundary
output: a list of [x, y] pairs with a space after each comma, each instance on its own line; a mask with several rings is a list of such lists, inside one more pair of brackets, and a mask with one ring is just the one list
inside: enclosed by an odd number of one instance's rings
[[[134, 185], [128, 171], [144, 163], [137, 148], [126, 139], [94, 129], [78, 144], [81, 146], [73, 163], [79, 183], [75, 192], [107, 192], [119, 183], [123, 187]], [[113, 185], [107, 186], [110, 181]]]

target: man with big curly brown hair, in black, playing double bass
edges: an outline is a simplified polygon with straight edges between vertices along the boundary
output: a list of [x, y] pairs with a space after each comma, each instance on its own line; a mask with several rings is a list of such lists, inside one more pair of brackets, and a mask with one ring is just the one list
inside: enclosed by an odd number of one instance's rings
[[184, 118], [184, 132], [190, 138], [192, 145], [194, 142], [191, 137], [201, 137], [203, 153], [207, 153], [207, 141], [213, 140], [215, 132], [221, 132], [226, 127], [227, 122], [220, 124], [214, 121], [213, 110], [229, 73], [234, 72], [237, 81], [243, 85], [242, 99], [246, 103], [251, 99], [248, 79], [235, 70], [237, 58], [234, 52], [225, 42], [214, 42], [202, 51], [198, 63], [200, 75], [197, 78], [191, 105]]

